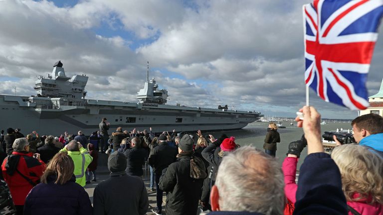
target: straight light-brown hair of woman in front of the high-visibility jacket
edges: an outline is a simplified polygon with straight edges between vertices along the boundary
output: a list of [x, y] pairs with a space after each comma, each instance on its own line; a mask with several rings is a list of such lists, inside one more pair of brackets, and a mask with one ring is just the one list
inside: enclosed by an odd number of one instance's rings
[[63, 185], [72, 178], [74, 163], [67, 153], [59, 152], [49, 161], [44, 173], [41, 176], [41, 182], [47, 184], [47, 178], [50, 175], [57, 177], [55, 184]]

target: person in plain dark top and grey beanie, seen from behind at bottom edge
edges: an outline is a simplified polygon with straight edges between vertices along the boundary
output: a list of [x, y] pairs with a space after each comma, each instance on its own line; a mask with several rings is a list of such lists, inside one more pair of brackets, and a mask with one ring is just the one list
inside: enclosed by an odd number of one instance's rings
[[145, 215], [149, 208], [148, 193], [141, 178], [126, 174], [125, 155], [113, 152], [108, 168], [110, 178], [94, 189], [93, 215]]

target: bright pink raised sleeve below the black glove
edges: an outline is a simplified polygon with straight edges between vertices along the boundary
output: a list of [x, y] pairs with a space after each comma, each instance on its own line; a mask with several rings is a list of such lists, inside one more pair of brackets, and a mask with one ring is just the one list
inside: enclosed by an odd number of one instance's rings
[[282, 164], [282, 171], [285, 178], [285, 195], [288, 200], [295, 204], [298, 185], [295, 184], [297, 174], [298, 158], [286, 157]]

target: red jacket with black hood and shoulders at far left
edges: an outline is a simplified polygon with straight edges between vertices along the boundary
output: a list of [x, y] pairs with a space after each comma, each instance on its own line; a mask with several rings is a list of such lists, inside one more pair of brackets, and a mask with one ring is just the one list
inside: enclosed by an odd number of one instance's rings
[[33, 188], [33, 185], [23, 178], [20, 173], [36, 185], [45, 170], [45, 163], [32, 157], [32, 155], [32, 153], [28, 152], [12, 152], [1, 165], [2, 176], [8, 184], [16, 206], [24, 205], [26, 195]]

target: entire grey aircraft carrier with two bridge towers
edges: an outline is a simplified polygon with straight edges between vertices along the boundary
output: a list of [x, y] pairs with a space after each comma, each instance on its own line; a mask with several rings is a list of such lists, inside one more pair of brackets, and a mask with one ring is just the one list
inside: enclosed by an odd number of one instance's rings
[[86, 135], [97, 131], [103, 117], [110, 122], [110, 133], [117, 127], [131, 131], [153, 128], [154, 132], [232, 130], [259, 119], [260, 112], [166, 105], [168, 91], [158, 89], [155, 79], [147, 80], [138, 92], [139, 102], [85, 99], [86, 75], [65, 75], [58, 61], [47, 78], [38, 76], [34, 89], [37, 96], [0, 95], [1, 129], [20, 128], [22, 133], [36, 130], [40, 134]]

